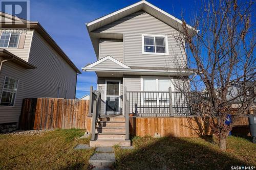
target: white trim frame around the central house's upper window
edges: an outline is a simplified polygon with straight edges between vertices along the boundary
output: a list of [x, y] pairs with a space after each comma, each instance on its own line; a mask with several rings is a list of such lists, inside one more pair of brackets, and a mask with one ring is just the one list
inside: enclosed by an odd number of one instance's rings
[[[155, 38], [155, 52], [145, 52], [144, 47], [144, 37], [154, 37]], [[156, 37], [164, 37], [165, 38], [165, 53], [157, 53], [156, 52]], [[167, 35], [153, 35], [153, 34], [141, 34], [141, 41], [142, 41], [142, 54], [149, 54], [149, 55], [169, 55], [169, 48], [168, 48], [168, 36]]]

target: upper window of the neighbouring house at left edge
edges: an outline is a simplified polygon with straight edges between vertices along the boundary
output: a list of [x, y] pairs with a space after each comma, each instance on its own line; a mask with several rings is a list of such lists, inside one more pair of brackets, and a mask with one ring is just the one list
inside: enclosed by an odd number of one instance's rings
[[3, 32], [0, 37], [0, 47], [15, 48], [18, 46], [19, 33]]

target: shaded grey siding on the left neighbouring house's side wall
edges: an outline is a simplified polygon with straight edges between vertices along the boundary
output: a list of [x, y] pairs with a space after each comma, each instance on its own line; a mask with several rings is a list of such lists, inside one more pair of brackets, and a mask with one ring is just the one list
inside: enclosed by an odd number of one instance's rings
[[0, 106], [0, 124], [18, 122], [24, 98], [75, 98], [76, 71], [36, 32], [31, 44], [29, 62], [36, 69], [25, 69], [7, 61], [0, 72], [0, 94], [5, 76], [19, 81], [14, 106]]

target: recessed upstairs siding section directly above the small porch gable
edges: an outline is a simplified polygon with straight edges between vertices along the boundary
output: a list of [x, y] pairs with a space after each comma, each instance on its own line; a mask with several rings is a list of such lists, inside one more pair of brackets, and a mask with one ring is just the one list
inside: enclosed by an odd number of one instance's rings
[[114, 59], [123, 62], [123, 40], [119, 39], [101, 39], [99, 59], [105, 56], [111, 56]]

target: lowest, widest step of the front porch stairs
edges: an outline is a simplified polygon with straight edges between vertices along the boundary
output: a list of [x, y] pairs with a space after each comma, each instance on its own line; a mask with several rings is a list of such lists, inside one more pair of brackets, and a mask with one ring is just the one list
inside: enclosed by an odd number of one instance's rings
[[97, 139], [90, 140], [90, 147], [113, 147], [119, 144], [121, 147], [131, 147], [131, 140], [124, 139]]

